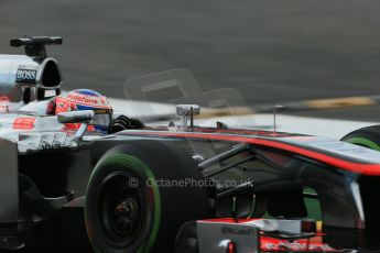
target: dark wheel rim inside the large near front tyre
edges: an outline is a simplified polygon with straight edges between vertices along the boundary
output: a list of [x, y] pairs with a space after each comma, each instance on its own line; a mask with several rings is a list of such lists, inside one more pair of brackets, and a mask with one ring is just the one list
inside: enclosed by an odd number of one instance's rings
[[143, 223], [142, 195], [139, 187], [130, 187], [131, 179], [126, 173], [110, 174], [104, 179], [99, 196], [100, 224], [106, 237], [120, 246], [131, 244]]

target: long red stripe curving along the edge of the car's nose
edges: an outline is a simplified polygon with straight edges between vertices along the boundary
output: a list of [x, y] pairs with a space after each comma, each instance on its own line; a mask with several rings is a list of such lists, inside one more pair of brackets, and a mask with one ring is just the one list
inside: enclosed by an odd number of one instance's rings
[[269, 147], [275, 147], [284, 151], [289, 151], [295, 154], [300, 154], [316, 161], [319, 161], [325, 164], [333, 165], [338, 168], [350, 170], [358, 174], [370, 175], [370, 176], [380, 176], [380, 164], [362, 164], [345, 161], [332, 155], [322, 154], [315, 151], [310, 151], [303, 147], [294, 146], [286, 143], [281, 143], [271, 140], [256, 139], [256, 138], [246, 138], [246, 136], [231, 136], [231, 135], [215, 135], [215, 134], [199, 134], [199, 133], [177, 133], [177, 132], [123, 132], [123, 134], [130, 135], [159, 135], [159, 136], [177, 136], [177, 138], [196, 138], [196, 139], [206, 139], [206, 140], [220, 140], [220, 141], [230, 141], [230, 142], [242, 142], [258, 144]]

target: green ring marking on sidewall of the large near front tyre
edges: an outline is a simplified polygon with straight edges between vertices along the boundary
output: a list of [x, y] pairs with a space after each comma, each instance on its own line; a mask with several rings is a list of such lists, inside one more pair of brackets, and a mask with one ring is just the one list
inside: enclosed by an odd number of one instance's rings
[[[116, 154], [111, 155], [109, 157], [102, 157], [98, 164], [101, 164], [101, 166], [121, 166], [121, 167], [128, 167], [130, 169], [133, 169], [137, 173], [143, 173], [146, 177], [148, 180], [150, 182], [155, 182], [154, 174], [150, 169], [150, 167], [144, 164], [141, 160], [137, 158], [135, 156], [127, 155], [127, 154]], [[88, 185], [90, 184], [93, 177], [95, 176], [97, 172], [98, 166], [93, 170], [91, 176], [88, 180]], [[88, 188], [88, 186], [87, 186]], [[160, 196], [160, 190], [159, 187], [152, 186], [153, 189], [153, 196], [154, 196], [154, 221], [153, 221], [153, 228], [151, 230], [151, 234], [149, 239], [146, 240], [146, 245], [141, 245], [138, 250], [138, 253], [145, 253], [149, 252], [158, 237], [159, 229], [160, 229], [160, 223], [161, 223], [161, 196]], [[85, 206], [86, 208], [86, 206]], [[86, 211], [85, 211], [86, 213]], [[99, 252], [97, 250], [97, 252]]]

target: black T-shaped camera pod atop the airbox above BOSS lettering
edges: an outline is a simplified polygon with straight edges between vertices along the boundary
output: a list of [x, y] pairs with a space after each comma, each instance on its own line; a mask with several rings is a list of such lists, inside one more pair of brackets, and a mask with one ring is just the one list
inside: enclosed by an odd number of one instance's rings
[[10, 45], [13, 47], [24, 46], [28, 56], [46, 57], [45, 45], [61, 45], [62, 42], [59, 36], [23, 36], [11, 40]]

